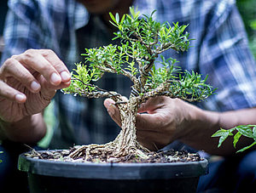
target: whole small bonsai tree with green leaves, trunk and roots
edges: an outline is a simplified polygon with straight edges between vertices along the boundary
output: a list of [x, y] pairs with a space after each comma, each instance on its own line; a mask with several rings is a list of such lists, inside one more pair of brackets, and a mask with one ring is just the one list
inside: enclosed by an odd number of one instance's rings
[[[153, 20], [154, 12], [140, 15], [130, 8], [130, 14], [119, 18], [110, 13], [113, 26], [118, 28], [114, 33], [120, 45], [108, 45], [100, 48], [86, 48], [86, 63], [76, 64], [72, 83], [63, 89], [65, 94], [74, 94], [88, 98], [108, 97], [115, 101], [121, 116], [121, 131], [116, 139], [105, 145], [82, 145], [69, 156], [84, 155], [85, 161], [101, 156], [100, 162], [119, 162], [129, 157], [147, 159], [150, 151], [140, 145], [136, 135], [136, 116], [138, 106], [156, 96], [183, 99], [189, 102], [207, 99], [212, 94], [212, 87], [207, 85], [207, 77], [194, 71], [181, 71], [175, 66], [177, 60], [165, 59], [161, 54], [168, 49], [177, 52], [189, 48], [187, 26], [178, 23], [160, 24]], [[160, 57], [160, 68], [156, 59]], [[129, 77], [132, 86], [128, 100], [122, 94], [99, 88], [96, 81], [104, 73], [115, 73]], [[128, 89], [128, 88], [127, 88]]]

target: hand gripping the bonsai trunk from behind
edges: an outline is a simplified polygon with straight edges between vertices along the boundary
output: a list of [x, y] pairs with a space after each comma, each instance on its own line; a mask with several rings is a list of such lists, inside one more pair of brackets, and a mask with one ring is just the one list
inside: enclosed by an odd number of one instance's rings
[[[113, 121], [121, 126], [119, 109], [114, 105], [114, 101], [105, 99], [104, 105]], [[181, 99], [149, 99], [138, 109], [137, 140], [149, 150], [163, 148], [189, 132], [190, 124], [195, 121], [196, 111], [194, 105], [189, 105]]]

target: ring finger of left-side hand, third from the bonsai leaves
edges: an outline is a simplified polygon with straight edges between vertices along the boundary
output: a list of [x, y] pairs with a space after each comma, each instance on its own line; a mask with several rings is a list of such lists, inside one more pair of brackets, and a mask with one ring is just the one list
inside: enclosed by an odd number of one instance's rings
[[30, 71], [28, 71], [18, 60], [15, 60], [14, 58], [10, 58], [4, 62], [0, 74], [3, 79], [10, 79], [9, 77], [14, 77], [15, 80], [18, 80], [32, 93], [37, 93], [41, 88], [37, 79], [32, 76]]

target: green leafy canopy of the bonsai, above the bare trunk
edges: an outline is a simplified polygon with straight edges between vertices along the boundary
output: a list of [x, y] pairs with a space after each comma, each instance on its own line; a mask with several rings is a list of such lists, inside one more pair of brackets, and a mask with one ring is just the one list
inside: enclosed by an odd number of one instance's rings
[[[213, 94], [207, 85], [207, 77], [194, 71], [181, 71], [177, 60], [165, 59], [161, 54], [172, 48], [177, 52], [189, 49], [188, 25], [179, 26], [178, 22], [160, 24], [153, 20], [153, 14], [141, 15], [130, 8], [130, 14], [110, 13], [115, 32], [113, 39], [119, 39], [120, 45], [109, 44], [100, 48], [85, 48], [85, 63], [76, 64], [72, 83], [63, 89], [67, 94], [79, 94], [86, 97], [116, 97], [115, 92], [96, 86], [104, 73], [116, 73], [129, 77], [133, 86], [131, 96], [153, 97], [166, 95], [172, 98], [197, 101], [207, 99]], [[160, 65], [156, 68], [156, 59], [160, 56]]]

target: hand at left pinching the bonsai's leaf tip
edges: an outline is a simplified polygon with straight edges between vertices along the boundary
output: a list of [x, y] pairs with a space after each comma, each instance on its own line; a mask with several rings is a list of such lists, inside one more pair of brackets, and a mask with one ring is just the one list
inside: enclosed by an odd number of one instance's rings
[[43, 111], [70, 80], [66, 65], [49, 49], [12, 56], [0, 68], [0, 119], [17, 122]]

